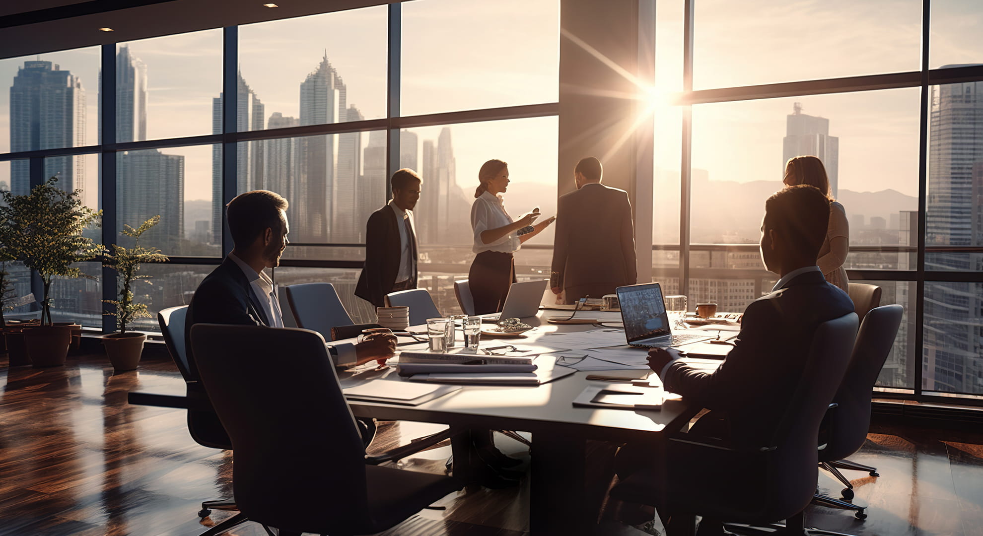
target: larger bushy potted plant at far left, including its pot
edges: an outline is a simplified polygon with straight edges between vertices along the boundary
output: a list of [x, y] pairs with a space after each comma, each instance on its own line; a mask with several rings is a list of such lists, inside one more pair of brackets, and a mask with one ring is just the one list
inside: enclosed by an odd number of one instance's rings
[[26, 328], [25, 346], [35, 367], [64, 365], [72, 342], [74, 323], [53, 323], [51, 319], [51, 282], [56, 275], [82, 276], [82, 270], [72, 265], [91, 261], [103, 247], [84, 237], [82, 232], [98, 224], [100, 211], [82, 204], [82, 190], [66, 192], [58, 188], [58, 178], [30, 190], [28, 195], [0, 193], [0, 227], [6, 255], [24, 263], [41, 278], [40, 326]]

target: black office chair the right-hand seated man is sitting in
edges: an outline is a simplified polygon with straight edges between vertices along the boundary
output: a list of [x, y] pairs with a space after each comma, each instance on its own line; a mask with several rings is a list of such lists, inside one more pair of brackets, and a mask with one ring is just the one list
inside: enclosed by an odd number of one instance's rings
[[[820, 325], [775, 436], [762, 438], [762, 447], [737, 448], [676, 434], [666, 445], [665, 474], [635, 473], [612, 488], [611, 497], [724, 521], [787, 519], [791, 528], [804, 526], [803, 512], [816, 491], [820, 424], [846, 371], [856, 332], [855, 313]], [[699, 464], [672, 462], [698, 458]], [[673, 529], [692, 533], [693, 516], [681, 527], [672, 523]]]

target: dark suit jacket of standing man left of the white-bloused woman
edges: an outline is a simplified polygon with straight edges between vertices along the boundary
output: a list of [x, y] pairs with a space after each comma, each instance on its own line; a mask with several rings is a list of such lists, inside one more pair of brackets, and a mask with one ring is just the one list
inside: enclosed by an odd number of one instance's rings
[[[366, 263], [355, 287], [355, 295], [376, 307], [385, 307], [385, 295], [392, 292], [399, 273], [402, 244], [399, 241], [399, 225], [403, 222], [396, 212], [386, 205], [369, 216], [366, 224]], [[416, 242], [416, 229], [412, 240]], [[410, 276], [410, 288], [417, 287], [417, 272]]]

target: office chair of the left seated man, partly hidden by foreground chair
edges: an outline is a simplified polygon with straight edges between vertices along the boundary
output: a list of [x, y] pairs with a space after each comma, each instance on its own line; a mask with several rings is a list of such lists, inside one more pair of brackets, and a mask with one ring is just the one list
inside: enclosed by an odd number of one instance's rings
[[[157, 313], [157, 323], [160, 325], [160, 332], [164, 335], [164, 342], [167, 344], [167, 351], [171, 354], [171, 359], [184, 378], [187, 397], [202, 401], [202, 406], [207, 407], [207, 396], [198, 381], [191, 380], [191, 372], [188, 365], [188, 356], [185, 346], [185, 320], [188, 316], [188, 306], [169, 307]], [[213, 411], [206, 409], [188, 409], [188, 432], [191, 434], [195, 443], [203, 447], [221, 448], [228, 450], [232, 448], [232, 441], [222, 428], [222, 423], [218, 421], [218, 416]], [[237, 510], [236, 502], [232, 499], [218, 499], [213, 501], [203, 501], [202, 509], [199, 510], [199, 517], [207, 517], [212, 509]], [[221, 531], [231, 529], [239, 524], [231, 523], [232, 518], [226, 519], [214, 525], [204, 534], [220, 534]], [[242, 521], [245, 521], [243, 519]], [[240, 522], [242, 522], [240, 521]], [[219, 532], [212, 532], [215, 529]], [[204, 535], [202, 535], [204, 536]]]

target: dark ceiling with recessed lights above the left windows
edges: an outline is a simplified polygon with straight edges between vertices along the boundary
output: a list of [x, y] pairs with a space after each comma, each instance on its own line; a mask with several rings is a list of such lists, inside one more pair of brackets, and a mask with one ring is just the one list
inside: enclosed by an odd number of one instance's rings
[[[237, 26], [389, 3], [385, 0], [8, 0], [0, 58]], [[100, 31], [111, 28], [114, 31]]]

